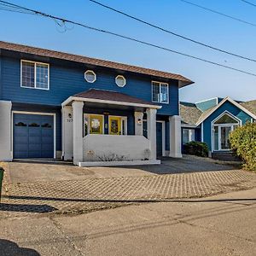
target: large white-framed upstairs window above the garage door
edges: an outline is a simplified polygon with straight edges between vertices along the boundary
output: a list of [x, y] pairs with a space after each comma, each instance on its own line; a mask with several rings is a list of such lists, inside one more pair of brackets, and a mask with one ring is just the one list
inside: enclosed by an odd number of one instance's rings
[[37, 61], [20, 61], [20, 86], [49, 90], [49, 64]]

